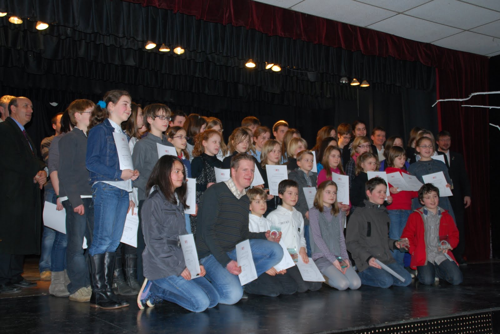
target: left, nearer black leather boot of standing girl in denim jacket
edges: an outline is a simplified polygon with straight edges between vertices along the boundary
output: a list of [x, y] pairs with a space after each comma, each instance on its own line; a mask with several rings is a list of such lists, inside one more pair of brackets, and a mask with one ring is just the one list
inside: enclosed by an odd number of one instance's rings
[[90, 264], [90, 285], [92, 294], [90, 295], [90, 306], [101, 309], [118, 309], [121, 304], [110, 300], [106, 294], [104, 282], [104, 254], [89, 256]]

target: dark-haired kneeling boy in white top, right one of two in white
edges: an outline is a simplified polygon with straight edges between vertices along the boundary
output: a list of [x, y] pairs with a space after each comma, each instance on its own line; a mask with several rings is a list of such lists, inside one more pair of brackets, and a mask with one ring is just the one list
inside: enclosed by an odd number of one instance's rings
[[[283, 180], [278, 185], [278, 195], [283, 201], [276, 210], [267, 215], [272, 226], [281, 229], [281, 241], [285, 245], [294, 261], [298, 256], [302, 262], [308, 263], [309, 258], [305, 250], [304, 220], [302, 214], [293, 206], [298, 201], [298, 184], [293, 180]], [[295, 280], [298, 292], [317, 291], [321, 288], [321, 282], [308, 282], [302, 279], [296, 266], [287, 269], [287, 272]]]

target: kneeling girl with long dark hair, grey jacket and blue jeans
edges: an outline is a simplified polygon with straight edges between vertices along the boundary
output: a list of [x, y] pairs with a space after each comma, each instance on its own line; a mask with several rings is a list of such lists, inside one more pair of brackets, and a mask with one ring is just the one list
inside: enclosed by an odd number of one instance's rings
[[[141, 224], [146, 248], [142, 254], [144, 283], [137, 296], [137, 306], [153, 307], [163, 300], [192, 312], [203, 312], [218, 304], [219, 296], [203, 277], [191, 278], [186, 268], [179, 235], [186, 234], [186, 177], [178, 157], [162, 156], [147, 181], [141, 211]], [[194, 246], [194, 245], [193, 245]]]

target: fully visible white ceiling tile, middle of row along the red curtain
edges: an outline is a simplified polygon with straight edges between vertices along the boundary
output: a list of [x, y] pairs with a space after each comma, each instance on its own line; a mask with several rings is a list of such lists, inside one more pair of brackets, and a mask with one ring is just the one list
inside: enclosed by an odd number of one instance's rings
[[463, 31], [404, 14], [386, 18], [368, 28], [426, 43]]

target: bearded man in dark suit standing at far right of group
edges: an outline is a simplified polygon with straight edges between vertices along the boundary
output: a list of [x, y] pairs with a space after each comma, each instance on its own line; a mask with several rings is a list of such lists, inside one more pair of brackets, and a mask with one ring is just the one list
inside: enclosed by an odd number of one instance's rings
[[453, 196], [449, 198], [451, 207], [455, 214], [456, 227], [459, 232], [458, 245], [453, 250], [453, 256], [460, 265], [466, 265], [462, 255], [465, 249], [465, 209], [470, 206], [470, 182], [465, 170], [465, 161], [460, 153], [449, 150], [451, 146], [451, 136], [448, 131], [441, 131], [436, 137], [437, 153], [445, 156], [446, 167], [448, 167], [449, 177], [453, 183], [451, 192]]

